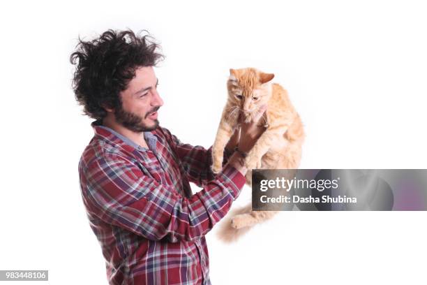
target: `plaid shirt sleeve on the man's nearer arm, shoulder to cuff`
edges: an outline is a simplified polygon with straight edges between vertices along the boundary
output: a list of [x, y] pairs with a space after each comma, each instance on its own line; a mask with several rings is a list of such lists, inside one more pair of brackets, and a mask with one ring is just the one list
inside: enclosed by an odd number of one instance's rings
[[80, 166], [80, 179], [84, 202], [96, 217], [149, 240], [170, 242], [206, 235], [227, 214], [245, 183], [245, 177], [227, 165], [201, 191], [184, 198], [117, 154]]

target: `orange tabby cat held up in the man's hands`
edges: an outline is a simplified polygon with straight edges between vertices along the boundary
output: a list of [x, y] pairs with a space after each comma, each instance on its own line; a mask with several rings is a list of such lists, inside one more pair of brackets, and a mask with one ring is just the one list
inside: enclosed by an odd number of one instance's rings
[[[227, 81], [228, 98], [212, 147], [212, 170], [222, 168], [223, 150], [234, 130], [239, 128], [239, 114], [246, 122], [256, 117], [258, 110], [267, 104], [267, 111], [260, 122], [267, 129], [248, 152], [245, 165], [248, 168], [246, 183], [251, 185], [251, 169], [298, 168], [304, 128], [297, 111], [287, 96], [287, 91], [277, 83], [271, 83], [274, 74], [263, 73], [255, 68], [230, 69]], [[274, 216], [274, 211], [252, 211], [251, 205], [230, 213], [223, 221], [220, 238], [237, 239], [248, 228]], [[231, 216], [231, 217], [230, 217]]]

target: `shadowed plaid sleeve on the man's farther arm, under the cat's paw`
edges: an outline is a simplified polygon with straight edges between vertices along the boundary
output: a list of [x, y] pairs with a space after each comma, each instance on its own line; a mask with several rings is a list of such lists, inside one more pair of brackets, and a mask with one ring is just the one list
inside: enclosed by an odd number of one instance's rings
[[[174, 152], [177, 154], [183, 169], [186, 171], [188, 181], [193, 182], [198, 187], [202, 187], [207, 182], [215, 179], [215, 174], [211, 170], [212, 165], [212, 147], [205, 149], [200, 145], [189, 145], [182, 143], [176, 136], [172, 135], [169, 130], [162, 128], [167, 140], [172, 145]], [[224, 150], [223, 166], [233, 152]]]

